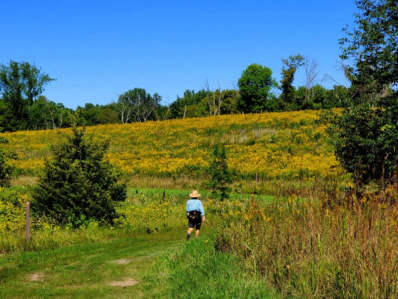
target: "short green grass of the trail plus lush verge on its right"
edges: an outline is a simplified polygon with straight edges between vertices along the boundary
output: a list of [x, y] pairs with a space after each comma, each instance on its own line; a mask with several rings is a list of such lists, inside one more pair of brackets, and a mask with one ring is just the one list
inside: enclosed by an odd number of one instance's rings
[[203, 227], [190, 242], [182, 230], [2, 255], [0, 298], [280, 298], [237, 256], [218, 253], [212, 234]]

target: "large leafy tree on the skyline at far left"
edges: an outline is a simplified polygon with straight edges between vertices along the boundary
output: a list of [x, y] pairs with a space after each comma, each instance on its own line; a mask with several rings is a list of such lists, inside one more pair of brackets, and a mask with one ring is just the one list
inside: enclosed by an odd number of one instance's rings
[[13, 130], [28, 128], [30, 106], [45, 86], [54, 80], [28, 62], [10, 60], [8, 65], [0, 64], [1, 101], [13, 114]]

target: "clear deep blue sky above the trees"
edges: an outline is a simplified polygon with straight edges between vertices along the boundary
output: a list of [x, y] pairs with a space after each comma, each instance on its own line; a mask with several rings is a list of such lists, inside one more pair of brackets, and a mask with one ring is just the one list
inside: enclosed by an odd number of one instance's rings
[[251, 63], [279, 81], [281, 58], [297, 53], [343, 82], [338, 39], [356, 12], [351, 0], [2, 0], [0, 9], [0, 63], [35, 63], [57, 79], [43, 95], [73, 109], [134, 87], [163, 104], [206, 80], [233, 88]]

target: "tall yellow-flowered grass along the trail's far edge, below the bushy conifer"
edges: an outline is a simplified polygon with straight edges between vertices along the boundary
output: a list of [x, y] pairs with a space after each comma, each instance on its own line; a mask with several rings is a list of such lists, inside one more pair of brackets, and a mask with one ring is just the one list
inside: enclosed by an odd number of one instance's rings
[[[145, 233], [181, 231], [184, 238], [188, 227], [185, 207], [192, 190], [128, 188], [127, 200], [117, 208], [120, 217], [113, 227], [99, 226], [92, 221], [87, 226], [73, 230], [32, 214], [29, 242], [26, 240], [24, 208], [28, 197], [25, 198], [26, 194], [22, 191], [14, 191], [8, 189], [1, 193], [10, 193], [12, 196], [0, 198], [0, 254], [37, 251]], [[218, 219], [211, 215], [213, 201], [208, 200], [210, 194], [202, 194], [209, 215], [205, 225], [216, 226]]]

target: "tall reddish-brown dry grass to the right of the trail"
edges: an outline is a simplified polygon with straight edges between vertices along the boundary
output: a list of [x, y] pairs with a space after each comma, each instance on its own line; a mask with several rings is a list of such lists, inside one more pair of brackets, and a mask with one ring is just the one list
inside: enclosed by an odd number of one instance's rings
[[319, 184], [263, 207], [226, 207], [215, 246], [289, 297], [397, 298], [397, 184], [354, 189]]

